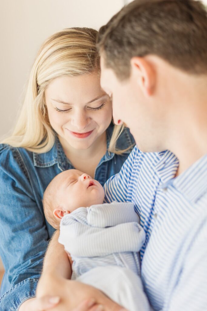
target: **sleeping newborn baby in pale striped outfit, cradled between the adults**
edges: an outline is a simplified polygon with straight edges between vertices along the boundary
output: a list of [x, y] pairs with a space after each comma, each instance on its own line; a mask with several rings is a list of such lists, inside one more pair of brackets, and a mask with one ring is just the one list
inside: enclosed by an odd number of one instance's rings
[[43, 207], [47, 221], [60, 228], [59, 243], [73, 260], [72, 279], [98, 288], [130, 311], [148, 310], [140, 280], [138, 252], [145, 232], [139, 217], [133, 203], [103, 200], [97, 180], [70, 169], [48, 185]]

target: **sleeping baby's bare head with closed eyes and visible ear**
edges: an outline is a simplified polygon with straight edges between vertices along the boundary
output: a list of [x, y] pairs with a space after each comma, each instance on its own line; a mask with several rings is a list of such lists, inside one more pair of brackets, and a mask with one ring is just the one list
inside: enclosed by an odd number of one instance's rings
[[101, 204], [104, 190], [101, 184], [77, 169], [58, 174], [47, 186], [43, 196], [43, 207], [47, 221], [59, 229], [66, 214], [79, 207]]

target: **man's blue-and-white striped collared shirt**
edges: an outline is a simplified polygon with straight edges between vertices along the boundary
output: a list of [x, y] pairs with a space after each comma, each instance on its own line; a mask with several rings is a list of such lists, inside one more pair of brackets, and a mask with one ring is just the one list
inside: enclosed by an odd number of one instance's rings
[[174, 178], [170, 151], [134, 147], [105, 184], [105, 201], [133, 202], [146, 232], [141, 277], [154, 310], [207, 310], [207, 155]]

